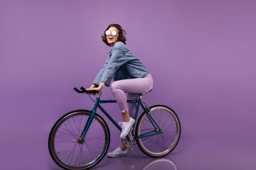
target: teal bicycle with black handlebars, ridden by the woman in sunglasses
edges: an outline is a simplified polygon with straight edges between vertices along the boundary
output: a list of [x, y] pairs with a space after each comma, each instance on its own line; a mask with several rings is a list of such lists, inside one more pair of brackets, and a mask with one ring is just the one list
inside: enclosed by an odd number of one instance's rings
[[[78, 93], [90, 94], [87, 91], [74, 88]], [[101, 100], [99, 92], [92, 110], [73, 110], [56, 121], [49, 134], [48, 148], [55, 163], [66, 170], [87, 170], [97, 165], [103, 159], [110, 145], [110, 131], [106, 121], [96, 113], [99, 108], [110, 121], [121, 131], [121, 127], [104, 110], [102, 103], [116, 103], [116, 100]], [[122, 143], [130, 147], [138, 144], [139, 149], [149, 157], [164, 157], [176, 146], [180, 139], [180, 121], [176, 113], [164, 105], [148, 107], [141, 101], [143, 93], [137, 100], [127, 100], [137, 103], [135, 123]], [[90, 95], [89, 95], [90, 96]], [[145, 104], [145, 106], [144, 106]], [[138, 121], [138, 111], [144, 112]], [[136, 124], [137, 122], [137, 124]], [[135, 128], [136, 124], [136, 128]], [[135, 133], [134, 133], [135, 132]], [[135, 143], [136, 141], [136, 143]]]

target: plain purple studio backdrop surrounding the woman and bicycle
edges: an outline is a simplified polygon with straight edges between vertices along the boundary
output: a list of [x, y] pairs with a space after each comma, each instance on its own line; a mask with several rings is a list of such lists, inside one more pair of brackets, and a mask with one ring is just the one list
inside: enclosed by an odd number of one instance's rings
[[[144, 102], [180, 117], [180, 142], [165, 158], [179, 169], [254, 169], [255, 9], [254, 0], [1, 0], [1, 169], [61, 169], [49, 131], [61, 115], [92, 108], [73, 88], [89, 87], [103, 66], [110, 47], [101, 35], [112, 23], [154, 77]], [[110, 98], [105, 87], [102, 99]], [[117, 104], [103, 106], [121, 120]], [[109, 128], [111, 151], [120, 141]], [[138, 148], [128, 158], [155, 160]], [[130, 170], [123, 159], [95, 168]]]

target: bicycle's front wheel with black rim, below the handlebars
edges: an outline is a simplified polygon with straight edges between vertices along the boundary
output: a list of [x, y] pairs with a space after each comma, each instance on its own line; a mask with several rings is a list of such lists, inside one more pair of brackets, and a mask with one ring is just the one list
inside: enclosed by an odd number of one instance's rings
[[[97, 113], [79, 144], [90, 110], [74, 110], [63, 115], [52, 127], [48, 148], [54, 162], [65, 170], [87, 170], [97, 165], [106, 155], [110, 144], [110, 132], [106, 121]], [[74, 158], [74, 159], [73, 159]]]

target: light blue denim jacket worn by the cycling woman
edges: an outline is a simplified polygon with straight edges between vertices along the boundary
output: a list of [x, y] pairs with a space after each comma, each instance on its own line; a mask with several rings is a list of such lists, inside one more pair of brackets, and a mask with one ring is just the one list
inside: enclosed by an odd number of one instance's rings
[[110, 86], [111, 79], [141, 78], [148, 74], [146, 67], [133, 55], [123, 42], [116, 42], [108, 53], [108, 58], [92, 84], [100, 82]]

